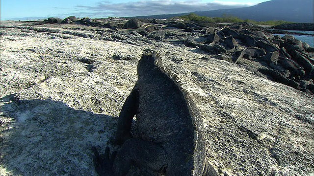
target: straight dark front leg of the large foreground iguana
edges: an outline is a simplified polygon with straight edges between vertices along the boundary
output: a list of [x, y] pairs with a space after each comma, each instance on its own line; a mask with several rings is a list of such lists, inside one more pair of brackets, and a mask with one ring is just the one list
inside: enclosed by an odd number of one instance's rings
[[130, 95], [124, 102], [119, 115], [117, 132], [115, 135], [114, 143], [123, 144], [126, 140], [132, 138], [131, 124], [134, 115], [138, 108], [138, 89], [135, 84]]

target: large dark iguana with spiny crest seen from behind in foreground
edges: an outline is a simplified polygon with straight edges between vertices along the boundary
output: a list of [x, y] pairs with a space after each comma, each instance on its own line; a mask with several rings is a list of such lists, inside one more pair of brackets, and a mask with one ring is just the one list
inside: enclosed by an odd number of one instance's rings
[[[165, 176], [217, 176], [206, 162], [201, 115], [178, 76], [162, 66], [156, 52], [142, 55], [137, 75], [119, 116], [115, 143], [121, 149], [110, 159], [107, 147], [103, 159], [93, 148], [98, 174], [125, 176], [136, 165]], [[138, 138], [131, 135], [134, 115]]]

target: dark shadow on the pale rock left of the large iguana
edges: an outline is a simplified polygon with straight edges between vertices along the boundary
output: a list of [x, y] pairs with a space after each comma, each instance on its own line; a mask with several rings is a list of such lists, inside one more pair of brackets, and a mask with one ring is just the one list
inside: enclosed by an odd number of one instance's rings
[[6, 173], [96, 176], [91, 146], [105, 149], [116, 126], [112, 116], [14, 95], [1, 98], [0, 108], [1, 169]]

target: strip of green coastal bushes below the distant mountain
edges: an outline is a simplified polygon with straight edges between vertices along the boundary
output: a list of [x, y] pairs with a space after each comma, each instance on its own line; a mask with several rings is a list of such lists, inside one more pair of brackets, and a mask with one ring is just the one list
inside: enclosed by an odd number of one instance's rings
[[183, 15], [176, 17], [178, 19], [182, 19], [185, 21], [192, 21], [192, 22], [249, 22], [252, 24], [261, 24], [261, 25], [279, 25], [279, 24], [288, 24], [292, 22], [286, 22], [282, 20], [272, 20], [266, 22], [257, 22], [254, 20], [242, 20], [232, 15], [223, 14], [222, 17], [207, 17], [207, 16], [198, 16], [194, 13], [190, 13], [188, 15]]

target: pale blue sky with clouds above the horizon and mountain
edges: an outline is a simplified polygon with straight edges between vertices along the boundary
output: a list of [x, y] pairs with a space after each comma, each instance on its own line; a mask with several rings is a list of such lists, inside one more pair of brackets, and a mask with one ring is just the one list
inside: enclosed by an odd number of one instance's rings
[[267, 0], [0, 0], [1, 20], [106, 18], [236, 8]]

